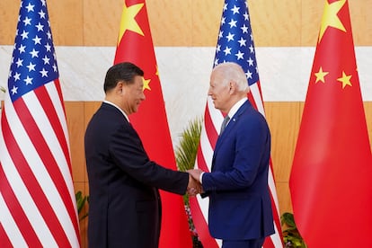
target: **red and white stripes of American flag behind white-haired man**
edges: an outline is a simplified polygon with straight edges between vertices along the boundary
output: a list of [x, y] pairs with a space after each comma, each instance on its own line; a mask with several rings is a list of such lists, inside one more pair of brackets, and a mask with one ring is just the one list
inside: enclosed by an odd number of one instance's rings
[[[248, 99], [252, 102], [252, 105], [265, 115], [263, 108], [263, 101], [261, 97], [260, 82], [252, 84], [250, 86], [251, 92], [248, 94]], [[224, 117], [221, 111], [215, 109], [212, 100], [208, 97], [206, 111], [204, 114], [204, 124], [201, 129], [200, 143], [198, 155], [195, 163], [195, 168], [199, 168], [205, 172], [210, 172], [213, 151], [215, 149], [218, 130], [222, 124]], [[269, 168], [269, 188], [271, 194], [271, 205], [274, 216], [274, 228], [275, 234], [270, 235], [263, 244], [264, 248], [270, 247], [283, 247], [281, 226], [279, 219], [279, 203], [277, 197], [277, 190], [275, 187], [274, 175], [272, 172], [272, 164], [270, 161]], [[190, 198], [190, 208], [192, 210], [192, 219], [196, 226], [199, 239], [204, 247], [215, 248], [221, 247], [221, 241], [212, 238], [208, 231], [208, 198], [201, 199], [199, 196], [196, 198]]]

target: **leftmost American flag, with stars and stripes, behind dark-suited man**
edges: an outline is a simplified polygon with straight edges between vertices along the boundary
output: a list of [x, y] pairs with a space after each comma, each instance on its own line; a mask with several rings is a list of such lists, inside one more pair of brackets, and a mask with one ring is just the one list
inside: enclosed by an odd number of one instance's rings
[[46, 0], [21, 1], [1, 116], [0, 209], [1, 247], [80, 246]]

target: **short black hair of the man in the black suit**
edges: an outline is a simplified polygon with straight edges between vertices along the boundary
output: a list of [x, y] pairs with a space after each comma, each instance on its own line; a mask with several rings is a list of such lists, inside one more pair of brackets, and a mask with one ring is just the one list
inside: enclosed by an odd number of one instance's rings
[[123, 82], [124, 84], [132, 84], [136, 75], [144, 76], [144, 71], [140, 67], [130, 62], [123, 62], [111, 66], [106, 73], [103, 90], [106, 93], [115, 88], [116, 84], [119, 82]]

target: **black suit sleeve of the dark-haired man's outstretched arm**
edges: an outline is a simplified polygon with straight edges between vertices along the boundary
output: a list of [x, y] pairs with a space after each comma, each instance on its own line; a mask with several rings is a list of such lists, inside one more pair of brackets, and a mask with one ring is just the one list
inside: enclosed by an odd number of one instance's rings
[[189, 173], [173, 171], [150, 161], [133, 128], [124, 126], [113, 132], [109, 151], [114, 163], [137, 181], [180, 195], [186, 192]]

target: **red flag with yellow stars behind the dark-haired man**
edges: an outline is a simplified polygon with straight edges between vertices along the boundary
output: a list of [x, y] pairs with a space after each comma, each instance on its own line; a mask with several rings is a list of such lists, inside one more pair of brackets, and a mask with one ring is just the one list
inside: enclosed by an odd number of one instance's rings
[[[134, 63], [145, 72], [146, 101], [141, 103], [138, 112], [130, 115], [129, 119], [141, 137], [149, 157], [159, 164], [176, 170], [144, 0], [124, 1], [114, 64], [124, 61]], [[189, 222], [182, 197], [163, 190], [160, 193], [163, 215], [159, 247], [192, 247]]]

